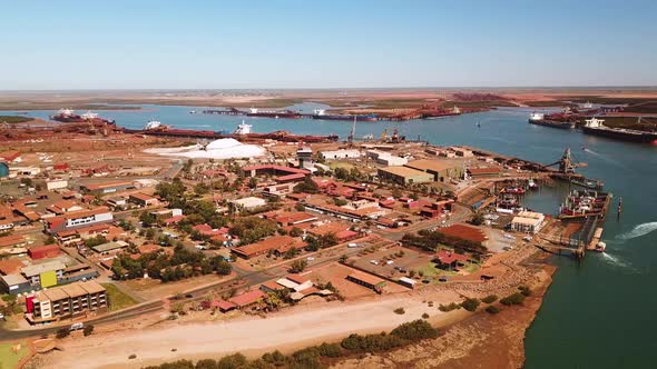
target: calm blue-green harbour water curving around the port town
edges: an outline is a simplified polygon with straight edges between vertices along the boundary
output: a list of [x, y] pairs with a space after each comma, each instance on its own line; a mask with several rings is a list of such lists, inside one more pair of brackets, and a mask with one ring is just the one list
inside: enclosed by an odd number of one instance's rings
[[[255, 132], [287, 130], [293, 133], [336, 133], [345, 138], [347, 121], [286, 120], [189, 114], [200, 107], [143, 106], [138, 111], [100, 111], [118, 126], [140, 128], [150, 119], [177, 128], [229, 130], [245, 119]], [[324, 108], [300, 104], [311, 112]], [[468, 144], [549, 163], [570, 147], [580, 171], [605, 181], [615, 198], [622, 197], [624, 213], [607, 218], [604, 241], [607, 253], [587, 255], [581, 263], [555, 259], [559, 266], [539, 315], [528, 331], [527, 368], [654, 368], [657, 366], [657, 147], [612, 141], [578, 131], [527, 123], [532, 109], [496, 111], [408, 122], [359, 122], [356, 136], [379, 137], [384, 128], [437, 144]], [[33, 111], [46, 118], [52, 111]], [[478, 129], [475, 123], [480, 122]], [[588, 151], [582, 151], [586, 146]], [[542, 190], [527, 205], [555, 213], [560, 193]], [[616, 202], [614, 202], [616, 203]]]

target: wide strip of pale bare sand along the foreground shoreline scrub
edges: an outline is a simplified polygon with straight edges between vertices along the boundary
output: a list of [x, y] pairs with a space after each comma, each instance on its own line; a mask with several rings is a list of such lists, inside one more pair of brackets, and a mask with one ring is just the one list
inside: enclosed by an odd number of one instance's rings
[[[454, 319], [440, 312], [439, 302], [458, 297], [442, 292], [429, 308], [422, 297], [377, 297], [357, 303], [333, 302], [323, 308], [297, 307], [263, 318], [244, 318], [214, 323], [176, 325], [143, 331], [124, 331], [62, 341], [63, 351], [41, 358], [40, 368], [143, 367], [178, 358], [218, 358], [228, 352], [264, 352], [281, 347], [305, 347], [339, 339], [353, 332], [377, 332], [431, 315], [435, 325]], [[393, 312], [403, 307], [404, 315]], [[457, 312], [459, 313], [459, 312]], [[171, 351], [171, 349], [176, 349]], [[128, 360], [130, 355], [137, 358]]]

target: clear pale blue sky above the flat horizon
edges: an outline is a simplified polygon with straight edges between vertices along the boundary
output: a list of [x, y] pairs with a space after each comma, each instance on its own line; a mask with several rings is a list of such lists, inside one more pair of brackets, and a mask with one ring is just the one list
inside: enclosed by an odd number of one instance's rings
[[657, 86], [657, 1], [8, 1], [0, 89]]

